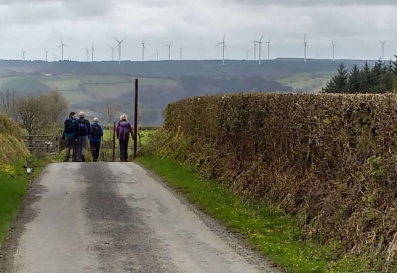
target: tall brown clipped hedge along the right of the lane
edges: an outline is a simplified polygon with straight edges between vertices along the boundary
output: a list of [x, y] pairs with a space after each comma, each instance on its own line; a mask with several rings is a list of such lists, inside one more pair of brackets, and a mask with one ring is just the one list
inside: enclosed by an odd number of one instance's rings
[[395, 95], [236, 94], [165, 111], [157, 152], [296, 214], [307, 237], [397, 251]]

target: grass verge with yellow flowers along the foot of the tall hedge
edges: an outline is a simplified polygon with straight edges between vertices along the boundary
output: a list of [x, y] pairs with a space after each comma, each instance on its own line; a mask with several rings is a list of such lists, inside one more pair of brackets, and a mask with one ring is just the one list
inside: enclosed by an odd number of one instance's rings
[[142, 156], [136, 161], [182, 192], [201, 210], [244, 235], [249, 245], [289, 273], [344, 273], [369, 269], [365, 258], [338, 258], [337, 254], [343, 250], [337, 243], [321, 245], [303, 241], [298, 219], [265, 204], [246, 204], [237, 194], [203, 179], [189, 166], [156, 156]]

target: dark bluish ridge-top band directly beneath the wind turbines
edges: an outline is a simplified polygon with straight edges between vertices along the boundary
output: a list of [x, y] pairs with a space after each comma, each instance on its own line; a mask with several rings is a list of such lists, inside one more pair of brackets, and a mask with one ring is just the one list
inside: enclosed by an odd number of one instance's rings
[[[133, 75], [142, 77], [160, 77], [179, 79], [183, 75], [209, 77], [252, 77], [262, 76], [276, 78], [280, 75], [292, 75], [303, 72], [336, 71], [343, 62], [347, 69], [364, 65], [363, 60], [317, 60], [307, 59], [304, 63], [299, 58], [278, 58], [263, 60], [262, 66], [257, 61], [226, 60], [225, 66], [219, 60], [186, 60], [186, 61], [122, 61], [121, 65], [114, 61], [103, 62], [44, 62], [1, 60], [0, 76], [15, 74], [110, 74]], [[376, 61], [368, 61], [373, 65]]]

